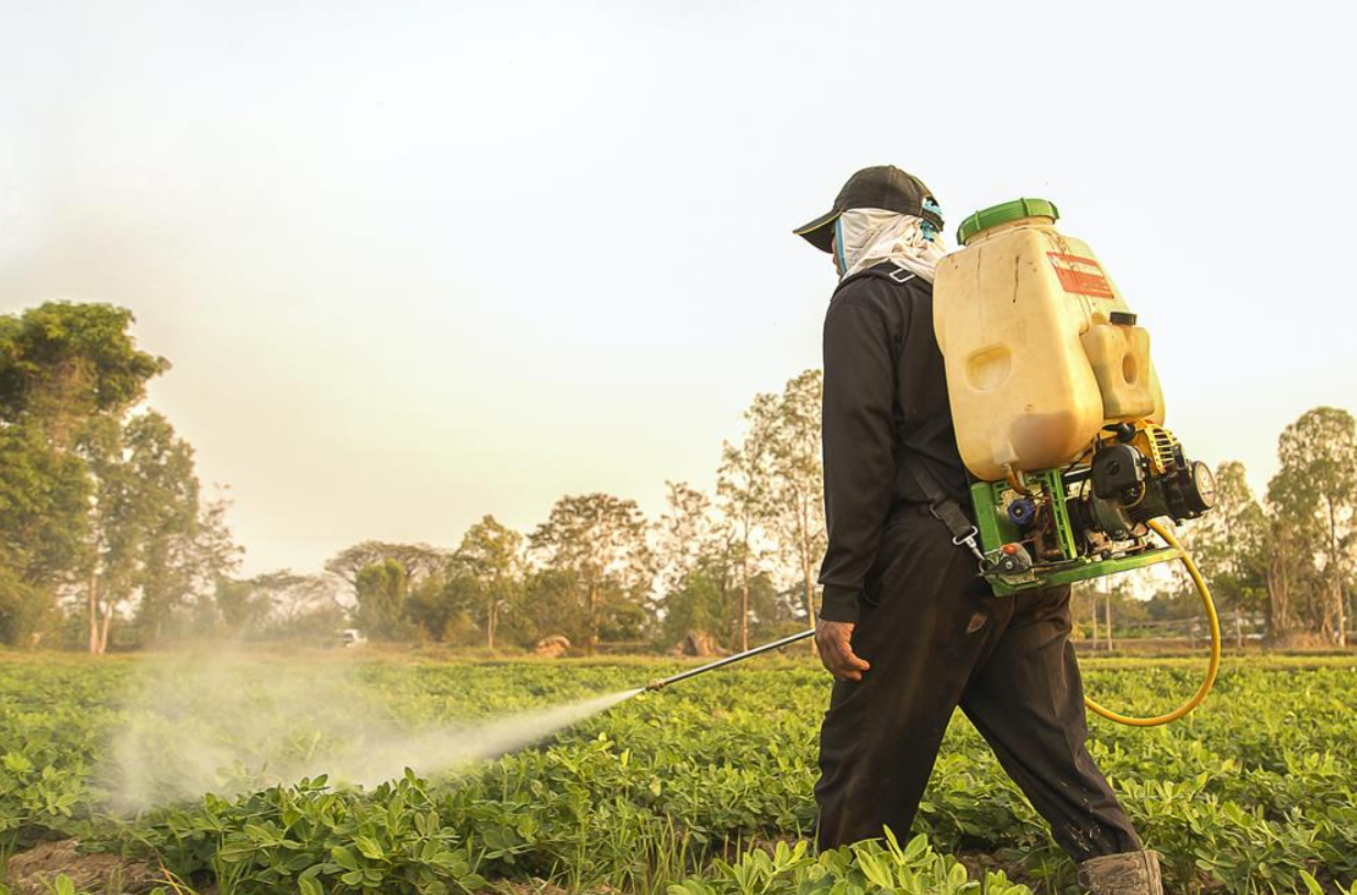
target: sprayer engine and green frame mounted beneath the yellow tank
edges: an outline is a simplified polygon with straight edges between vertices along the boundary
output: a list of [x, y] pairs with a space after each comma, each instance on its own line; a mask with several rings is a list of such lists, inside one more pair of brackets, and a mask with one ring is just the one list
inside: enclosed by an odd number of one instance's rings
[[972, 485], [996, 594], [1061, 584], [1177, 559], [1149, 521], [1194, 519], [1215, 504], [1204, 462], [1153, 423], [1114, 423], [1064, 469], [1011, 473]]

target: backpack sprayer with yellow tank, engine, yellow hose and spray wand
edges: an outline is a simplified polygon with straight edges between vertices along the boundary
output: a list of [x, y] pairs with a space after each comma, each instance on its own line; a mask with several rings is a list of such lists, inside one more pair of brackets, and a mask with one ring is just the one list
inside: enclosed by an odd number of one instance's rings
[[[1205, 579], [1163, 523], [1215, 504], [1206, 464], [1189, 461], [1163, 427], [1164, 399], [1149, 334], [1092, 250], [1056, 231], [1045, 199], [1016, 199], [968, 217], [962, 248], [934, 279], [934, 331], [947, 367], [957, 446], [974, 481], [974, 525], [923, 462], [906, 469], [974, 553], [996, 597], [1179, 561], [1201, 595], [1210, 660], [1177, 709], [1129, 717], [1084, 698], [1109, 720], [1151, 727], [1197, 708], [1220, 670], [1220, 621]], [[1158, 544], [1151, 536], [1158, 536]], [[814, 631], [726, 656], [646, 689], [803, 640]]]

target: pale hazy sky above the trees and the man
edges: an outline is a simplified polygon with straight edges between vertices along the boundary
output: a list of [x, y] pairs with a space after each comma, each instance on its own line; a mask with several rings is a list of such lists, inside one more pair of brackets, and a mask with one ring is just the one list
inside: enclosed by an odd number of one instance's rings
[[1352, 4], [0, 0], [0, 312], [111, 301], [246, 571], [711, 487], [818, 366], [790, 229], [1053, 199], [1190, 454], [1357, 411]]

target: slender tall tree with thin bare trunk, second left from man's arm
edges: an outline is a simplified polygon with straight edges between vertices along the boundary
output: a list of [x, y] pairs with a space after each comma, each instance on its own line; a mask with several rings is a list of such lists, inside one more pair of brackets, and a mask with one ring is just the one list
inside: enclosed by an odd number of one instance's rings
[[773, 434], [778, 419], [778, 397], [760, 393], [754, 396], [745, 420], [749, 430], [738, 445], [722, 442], [721, 469], [716, 472], [716, 495], [722, 513], [735, 530], [735, 557], [740, 563], [740, 617], [735, 629], [740, 632], [740, 650], [749, 648], [749, 582], [759, 571], [760, 525], [769, 515], [772, 500]]

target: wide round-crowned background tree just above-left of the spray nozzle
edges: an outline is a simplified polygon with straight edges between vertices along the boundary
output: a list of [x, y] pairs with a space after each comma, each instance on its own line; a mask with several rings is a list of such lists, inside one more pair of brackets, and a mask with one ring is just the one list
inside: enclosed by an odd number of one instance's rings
[[607, 494], [560, 498], [529, 545], [547, 568], [573, 575], [590, 648], [605, 625], [634, 628], [628, 608], [642, 603], [654, 575], [646, 519], [634, 500]]

